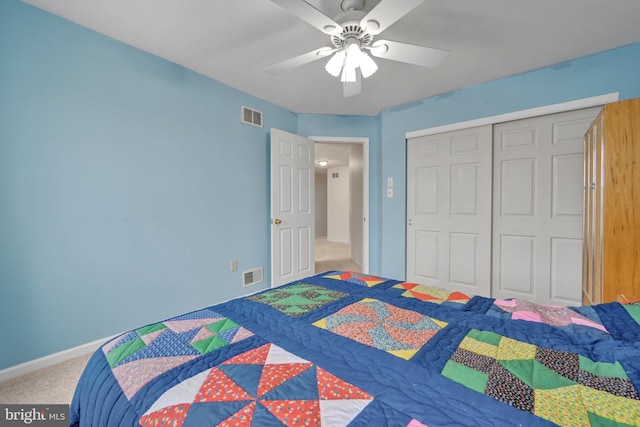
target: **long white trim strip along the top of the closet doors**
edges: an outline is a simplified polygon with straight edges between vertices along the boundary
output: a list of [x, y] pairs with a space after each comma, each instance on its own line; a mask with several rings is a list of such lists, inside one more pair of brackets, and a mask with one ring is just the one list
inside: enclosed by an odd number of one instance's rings
[[[466, 122], [452, 123], [444, 126], [436, 126], [427, 129], [407, 132], [405, 137], [417, 138], [419, 136], [434, 135], [436, 133], [450, 132], [453, 130], [467, 129], [476, 126], [492, 125], [513, 120], [528, 119], [530, 117], [544, 116], [546, 114], [563, 113], [565, 111], [579, 110], [581, 108], [597, 107], [610, 102], [616, 102], [620, 98], [619, 92], [607, 93], [604, 95], [592, 96], [590, 98], [576, 99], [575, 101], [562, 102], [560, 104], [545, 105], [542, 107], [530, 108], [527, 110], [514, 111], [497, 116], [483, 117]], [[313, 139], [313, 138], [311, 138]]]

